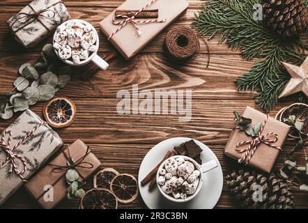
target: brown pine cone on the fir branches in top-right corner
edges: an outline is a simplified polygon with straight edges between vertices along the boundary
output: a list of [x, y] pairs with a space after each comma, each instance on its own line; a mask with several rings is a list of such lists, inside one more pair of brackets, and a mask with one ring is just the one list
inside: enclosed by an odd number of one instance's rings
[[263, 21], [283, 38], [298, 36], [308, 26], [302, 0], [263, 0]]

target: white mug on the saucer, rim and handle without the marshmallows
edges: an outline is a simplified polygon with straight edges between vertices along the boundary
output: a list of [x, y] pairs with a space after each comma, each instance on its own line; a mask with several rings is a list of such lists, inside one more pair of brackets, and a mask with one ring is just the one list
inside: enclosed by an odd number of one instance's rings
[[[201, 172], [200, 176], [199, 176], [199, 185], [197, 187], [197, 190], [194, 192], [194, 194], [190, 194], [188, 195], [185, 199], [175, 199], [172, 194], [166, 194], [163, 190], [162, 190], [162, 186], [159, 185], [157, 182], [159, 182], [159, 177], [160, 175], [160, 169], [164, 169], [164, 165], [166, 164], [166, 162], [171, 159], [177, 159], [179, 157], [183, 157], [185, 161], [189, 161], [192, 164], [194, 164], [194, 168], [196, 170], [199, 170]], [[206, 172], [215, 169], [216, 167], [218, 167], [218, 164], [216, 162], [216, 160], [210, 160], [209, 162], [206, 162], [202, 165], [198, 164], [195, 160], [192, 160], [192, 158], [187, 157], [185, 155], [174, 155], [172, 157], [169, 157], [167, 160], [164, 160], [164, 162], [162, 162], [162, 164], [160, 165], [160, 168], [157, 171], [157, 175], [156, 175], [156, 184], [158, 187], [158, 190], [160, 191], [160, 193], [162, 194], [162, 196], [166, 199], [168, 199], [169, 201], [174, 201], [176, 203], [183, 203], [183, 202], [187, 202], [187, 201], [191, 201], [192, 199], [194, 199], [194, 197], [197, 197], [197, 195], [199, 194], [202, 186], [203, 186], [203, 174], [205, 174]]]

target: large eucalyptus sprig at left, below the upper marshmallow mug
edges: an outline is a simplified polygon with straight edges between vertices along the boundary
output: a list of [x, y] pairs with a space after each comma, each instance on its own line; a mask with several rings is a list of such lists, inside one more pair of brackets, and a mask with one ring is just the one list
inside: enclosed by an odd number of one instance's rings
[[71, 68], [61, 65], [52, 45], [47, 44], [36, 62], [24, 63], [18, 73], [20, 77], [13, 82], [12, 91], [0, 97], [0, 118], [9, 119], [14, 112], [24, 111], [38, 101], [53, 98], [59, 89], [70, 82]]

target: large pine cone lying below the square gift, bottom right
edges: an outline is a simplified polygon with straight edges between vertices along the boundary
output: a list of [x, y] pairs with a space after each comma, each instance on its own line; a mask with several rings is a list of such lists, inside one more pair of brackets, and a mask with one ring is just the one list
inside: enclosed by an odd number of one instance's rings
[[[275, 175], [266, 176], [241, 169], [226, 176], [231, 193], [242, 201], [243, 208], [252, 209], [293, 209], [293, 194], [288, 185]], [[256, 190], [256, 185], [261, 190]], [[261, 192], [259, 194], [259, 192]], [[261, 201], [254, 201], [261, 195]]]

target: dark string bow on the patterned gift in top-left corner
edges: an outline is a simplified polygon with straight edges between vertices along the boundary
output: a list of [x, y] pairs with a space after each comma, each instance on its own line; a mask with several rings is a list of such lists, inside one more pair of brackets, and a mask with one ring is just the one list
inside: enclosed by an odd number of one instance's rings
[[[57, 3], [52, 4], [52, 6], [56, 6], [59, 3], [63, 3], [63, 2], [59, 1]], [[23, 29], [25, 26], [27, 26], [33, 21], [40, 22], [40, 24], [42, 24], [45, 27], [45, 29], [47, 29], [47, 31], [50, 31], [48, 27], [45, 26], [45, 24], [40, 20], [40, 17], [44, 17], [47, 20], [52, 20], [56, 16], [56, 13], [54, 12], [54, 10], [50, 9], [50, 7], [52, 6], [49, 6], [49, 8], [44, 8], [42, 10], [39, 10], [38, 12], [36, 12], [36, 10], [34, 10], [34, 8], [30, 4], [28, 6], [29, 8], [31, 8], [33, 13], [18, 13], [15, 18], [15, 21], [10, 26], [13, 27], [16, 22], [19, 22], [21, 26], [18, 29], [16, 29], [14, 32], [17, 33], [17, 31], [20, 31], [20, 29]], [[45, 13], [47, 12], [51, 12], [52, 15], [51, 16], [46, 15]]]

